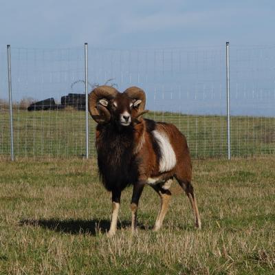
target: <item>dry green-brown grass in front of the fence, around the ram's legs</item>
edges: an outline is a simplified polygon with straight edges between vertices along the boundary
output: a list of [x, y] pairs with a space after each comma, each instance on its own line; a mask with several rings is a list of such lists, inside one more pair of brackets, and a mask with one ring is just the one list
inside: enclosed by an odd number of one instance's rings
[[0, 274], [274, 274], [275, 157], [195, 160], [202, 229], [173, 183], [160, 232], [159, 198], [146, 187], [138, 232], [129, 230], [131, 188], [118, 233], [91, 159], [0, 162]]

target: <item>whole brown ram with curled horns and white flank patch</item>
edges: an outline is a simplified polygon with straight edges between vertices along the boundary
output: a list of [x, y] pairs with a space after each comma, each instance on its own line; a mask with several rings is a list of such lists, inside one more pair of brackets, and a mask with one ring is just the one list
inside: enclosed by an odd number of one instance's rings
[[197, 201], [191, 185], [192, 164], [186, 138], [173, 124], [142, 118], [146, 96], [142, 89], [130, 87], [123, 93], [107, 85], [89, 94], [89, 113], [96, 126], [98, 169], [104, 187], [111, 191], [113, 212], [109, 236], [115, 234], [120, 195], [133, 185], [131, 230], [137, 228], [137, 207], [146, 184], [161, 199], [153, 230], [162, 226], [168, 210], [172, 179], [184, 189], [201, 228]]

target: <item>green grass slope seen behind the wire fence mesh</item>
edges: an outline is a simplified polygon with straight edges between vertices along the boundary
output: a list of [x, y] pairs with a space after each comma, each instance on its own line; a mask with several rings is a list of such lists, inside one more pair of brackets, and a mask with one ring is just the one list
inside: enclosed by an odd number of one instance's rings
[[[226, 157], [226, 118], [218, 115], [148, 113], [147, 118], [172, 122], [188, 139], [192, 157]], [[94, 150], [95, 122], [89, 120], [90, 155]], [[232, 156], [275, 153], [275, 118], [232, 116]], [[7, 109], [0, 110], [0, 155], [10, 155]], [[14, 110], [16, 157], [68, 157], [85, 155], [85, 112]]]

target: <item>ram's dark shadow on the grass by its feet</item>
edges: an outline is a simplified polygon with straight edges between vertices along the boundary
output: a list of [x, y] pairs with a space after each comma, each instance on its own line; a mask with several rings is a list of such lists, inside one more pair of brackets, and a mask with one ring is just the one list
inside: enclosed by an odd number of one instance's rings
[[[19, 225], [32, 225], [47, 228], [56, 232], [65, 232], [69, 234], [91, 234], [96, 235], [99, 232], [104, 233], [109, 230], [110, 221], [106, 219], [23, 219]], [[129, 221], [119, 221], [118, 229], [129, 228]], [[139, 228], [144, 229], [144, 226]]]

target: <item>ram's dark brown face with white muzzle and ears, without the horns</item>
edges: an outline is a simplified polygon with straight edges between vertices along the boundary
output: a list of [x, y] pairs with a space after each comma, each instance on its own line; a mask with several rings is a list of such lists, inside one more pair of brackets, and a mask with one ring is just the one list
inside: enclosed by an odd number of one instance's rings
[[112, 119], [122, 125], [129, 126], [137, 113], [137, 107], [141, 100], [133, 100], [126, 94], [118, 94], [112, 100], [100, 100], [100, 104], [107, 107]]

